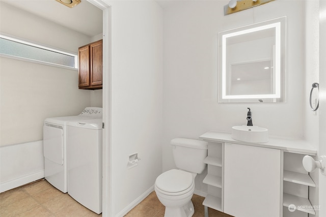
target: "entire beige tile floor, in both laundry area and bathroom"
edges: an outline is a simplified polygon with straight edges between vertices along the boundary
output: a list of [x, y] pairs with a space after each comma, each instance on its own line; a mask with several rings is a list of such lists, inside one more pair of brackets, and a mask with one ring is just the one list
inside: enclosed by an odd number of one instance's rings
[[[193, 217], [204, 217], [204, 197], [194, 195], [195, 206]], [[152, 192], [140, 204], [130, 210], [125, 217], [163, 217], [165, 207]], [[214, 209], [208, 209], [209, 217], [232, 217]], [[68, 194], [52, 187], [46, 180], [39, 180], [22, 187], [0, 194], [0, 216], [68, 216], [90, 217], [102, 216], [80, 205]]]

